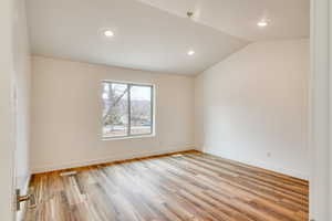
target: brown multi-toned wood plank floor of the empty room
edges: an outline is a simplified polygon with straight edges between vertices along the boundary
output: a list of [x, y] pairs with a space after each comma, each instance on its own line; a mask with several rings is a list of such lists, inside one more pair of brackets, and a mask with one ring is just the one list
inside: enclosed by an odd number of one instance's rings
[[35, 175], [25, 221], [307, 221], [308, 182], [196, 151]]

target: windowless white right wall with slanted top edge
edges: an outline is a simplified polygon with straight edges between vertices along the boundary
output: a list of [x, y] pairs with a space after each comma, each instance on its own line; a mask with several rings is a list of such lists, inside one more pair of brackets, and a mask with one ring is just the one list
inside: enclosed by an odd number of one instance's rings
[[197, 76], [196, 146], [308, 179], [309, 59], [309, 40], [252, 43]]

